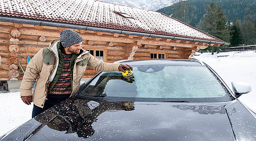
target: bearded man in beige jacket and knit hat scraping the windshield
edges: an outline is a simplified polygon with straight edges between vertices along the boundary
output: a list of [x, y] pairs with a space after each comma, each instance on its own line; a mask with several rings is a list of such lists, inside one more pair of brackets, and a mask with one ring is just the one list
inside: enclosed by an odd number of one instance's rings
[[34, 103], [32, 117], [78, 92], [87, 66], [97, 71], [132, 69], [129, 65], [96, 59], [82, 49], [82, 41], [82, 37], [72, 30], [61, 31], [59, 40], [38, 51], [28, 63], [20, 85], [20, 98], [27, 105]]

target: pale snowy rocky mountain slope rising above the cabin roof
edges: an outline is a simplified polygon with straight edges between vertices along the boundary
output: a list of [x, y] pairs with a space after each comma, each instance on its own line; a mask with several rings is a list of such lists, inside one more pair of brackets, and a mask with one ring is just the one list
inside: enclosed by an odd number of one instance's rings
[[129, 7], [156, 11], [163, 7], [173, 5], [180, 0], [100, 0], [102, 2], [109, 2], [112, 4], [125, 5]]

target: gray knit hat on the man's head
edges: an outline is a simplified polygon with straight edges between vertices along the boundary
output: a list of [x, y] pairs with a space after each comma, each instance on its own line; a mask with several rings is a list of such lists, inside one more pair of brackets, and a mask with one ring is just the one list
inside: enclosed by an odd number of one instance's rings
[[69, 47], [71, 45], [82, 42], [83, 38], [75, 31], [66, 29], [60, 32], [59, 40], [63, 47]]

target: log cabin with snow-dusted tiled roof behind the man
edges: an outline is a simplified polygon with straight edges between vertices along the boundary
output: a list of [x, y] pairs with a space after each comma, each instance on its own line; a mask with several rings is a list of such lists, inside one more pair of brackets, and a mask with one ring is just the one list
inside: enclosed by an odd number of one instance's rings
[[[199, 49], [228, 45], [163, 13], [97, 0], [0, 1], [0, 80], [22, 80], [27, 57], [71, 29], [83, 48], [106, 62], [189, 59]], [[84, 78], [95, 70], [87, 69]]]

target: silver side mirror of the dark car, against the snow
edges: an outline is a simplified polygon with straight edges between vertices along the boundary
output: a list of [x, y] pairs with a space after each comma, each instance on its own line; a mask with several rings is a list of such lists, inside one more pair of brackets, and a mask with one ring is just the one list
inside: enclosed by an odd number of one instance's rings
[[241, 96], [241, 94], [247, 94], [250, 91], [252, 91], [252, 87], [250, 87], [249, 83], [231, 82], [231, 84], [232, 84], [232, 89], [235, 92], [237, 98]]

